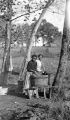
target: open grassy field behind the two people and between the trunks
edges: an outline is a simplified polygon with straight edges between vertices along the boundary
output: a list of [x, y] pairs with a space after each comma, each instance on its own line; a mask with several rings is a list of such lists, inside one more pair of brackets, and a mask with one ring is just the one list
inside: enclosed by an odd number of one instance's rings
[[[59, 52], [60, 48], [57, 47], [33, 47], [32, 48], [32, 54], [43, 54], [43, 63], [45, 66], [45, 69], [48, 73], [54, 74], [57, 71], [58, 63], [59, 63]], [[15, 71], [20, 72], [22, 62], [24, 60], [25, 55], [25, 48], [11, 48], [11, 55], [12, 55], [12, 62], [13, 62], [13, 68]], [[0, 49], [0, 70], [2, 67], [2, 57], [3, 57], [3, 49]], [[70, 61], [68, 61], [68, 67], [67, 67], [67, 73], [66, 76], [70, 76]], [[12, 75], [9, 76], [10, 83], [16, 83], [18, 81], [18, 75]]]

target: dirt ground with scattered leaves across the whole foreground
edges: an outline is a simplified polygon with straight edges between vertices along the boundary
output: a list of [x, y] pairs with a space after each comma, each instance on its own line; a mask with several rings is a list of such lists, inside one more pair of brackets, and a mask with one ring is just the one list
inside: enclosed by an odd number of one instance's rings
[[0, 96], [0, 120], [70, 120], [70, 101]]

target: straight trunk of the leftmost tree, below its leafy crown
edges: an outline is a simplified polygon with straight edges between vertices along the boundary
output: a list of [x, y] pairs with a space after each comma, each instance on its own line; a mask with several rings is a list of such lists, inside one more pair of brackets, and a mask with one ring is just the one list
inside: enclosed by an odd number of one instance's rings
[[7, 85], [8, 71], [10, 65], [10, 41], [11, 41], [11, 22], [7, 21], [6, 24], [6, 38], [5, 38], [5, 48], [3, 56], [3, 64], [1, 70], [1, 85]]

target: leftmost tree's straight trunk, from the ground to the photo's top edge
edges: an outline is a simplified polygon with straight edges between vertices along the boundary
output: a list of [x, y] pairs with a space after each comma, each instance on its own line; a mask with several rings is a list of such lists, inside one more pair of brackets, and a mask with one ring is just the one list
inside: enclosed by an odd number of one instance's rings
[[5, 27], [5, 48], [3, 56], [3, 64], [1, 70], [1, 85], [7, 85], [8, 71], [10, 65], [10, 42], [11, 42], [11, 10], [12, 10], [12, 1], [6, 0], [6, 12], [4, 14], [4, 19], [6, 21]]

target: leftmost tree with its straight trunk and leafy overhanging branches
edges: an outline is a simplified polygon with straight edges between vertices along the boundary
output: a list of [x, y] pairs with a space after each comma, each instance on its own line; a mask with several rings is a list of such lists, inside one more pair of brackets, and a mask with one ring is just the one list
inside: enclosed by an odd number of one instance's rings
[[[40, 4], [38, 7], [38, 4], [36, 1], [25, 1], [21, 2], [20, 0], [14, 0], [15, 1], [15, 6], [13, 4], [13, 0], [1, 0], [0, 1], [0, 10], [1, 13], [4, 14], [4, 18], [6, 19], [6, 39], [5, 39], [5, 50], [4, 50], [4, 59], [3, 59], [3, 67], [2, 67], [2, 73], [3, 73], [3, 78], [2, 78], [2, 83], [7, 84], [7, 77], [8, 77], [8, 70], [9, 70], [9, 65], [10, 65], [10, 40], [11, 40], [11, 21], [12, 19], [12, 8], [14, 10], [14, 15], [15, 13], [18, 13], [18, 11], [22, 11], [23, 15], [20, 15], [18, 17], [15, 17], [14, 19], [17, 19], [21, 16], [25, 16], [25, 20], [28, 19], [30, 13], [34, 13], [35, 11], [43, 9], [43, 1], [40, 0]], [[44, 1], [46, 4], [47, 1]], [[22, 6], [23, 4], [23, 6]], [[20, 10], [16, 9], [21, 5]], [[35, 7], [34, 7], [35, 6]], [[21, 10], [23, 7], [23, 10]], [[28, 47], [28, 46], [27, 46]]]

